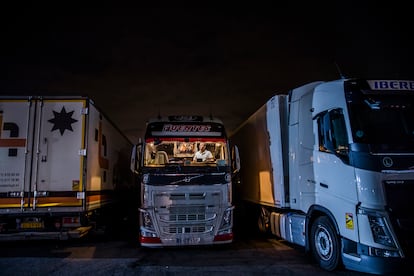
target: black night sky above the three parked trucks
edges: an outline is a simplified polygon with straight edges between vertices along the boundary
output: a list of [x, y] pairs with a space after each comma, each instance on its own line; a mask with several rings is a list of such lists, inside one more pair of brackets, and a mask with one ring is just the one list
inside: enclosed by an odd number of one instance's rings
[[212, 114], [231, 132], [307, 82], [414, 79], [408, 2], [359, 2], [2, 8], [0, 95], [89, 96], [135, 142], [159, 114]]

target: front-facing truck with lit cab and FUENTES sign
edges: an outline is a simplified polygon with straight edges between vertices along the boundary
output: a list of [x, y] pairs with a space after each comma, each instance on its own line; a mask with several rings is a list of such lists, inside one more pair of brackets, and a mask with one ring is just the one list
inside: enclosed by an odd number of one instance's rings
[[[194, 160], [200, 143], [213, 159]], [[219, 119], [150, 119], [131, 161], [141, 182], [141, 246], [231, 243], [231, 160], [227, 133]]]

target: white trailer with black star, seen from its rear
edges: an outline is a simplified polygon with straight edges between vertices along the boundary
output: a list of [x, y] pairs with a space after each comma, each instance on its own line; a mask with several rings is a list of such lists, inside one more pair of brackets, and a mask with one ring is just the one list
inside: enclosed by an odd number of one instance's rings
[[132, 143], [91, 99], [2, 96], [0, 127], [0, 240], [81, 238], [130, 213]]

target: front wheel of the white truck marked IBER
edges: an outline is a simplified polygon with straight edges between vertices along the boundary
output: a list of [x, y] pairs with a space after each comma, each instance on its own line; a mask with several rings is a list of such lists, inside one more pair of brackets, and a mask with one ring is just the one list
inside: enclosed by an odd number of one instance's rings
[[317, 218], [311, 227], [310, 246], [313, 258], [327, 271], [335, 270], [340, 264], [341, 246], [331, 221]]

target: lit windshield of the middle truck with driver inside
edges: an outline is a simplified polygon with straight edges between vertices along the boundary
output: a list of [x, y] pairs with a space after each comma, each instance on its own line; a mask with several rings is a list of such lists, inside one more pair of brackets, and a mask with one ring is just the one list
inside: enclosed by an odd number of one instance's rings
[[[205, 150], [211, 152], [210, 158], [194, 158], [205, 145]], [[184, 166], [227, 166], [229, 154], [225, 140], [192, 140], [168, 138], [148, 140], [144, 149], [144, 166], [168, 166], [180, 164]]]

